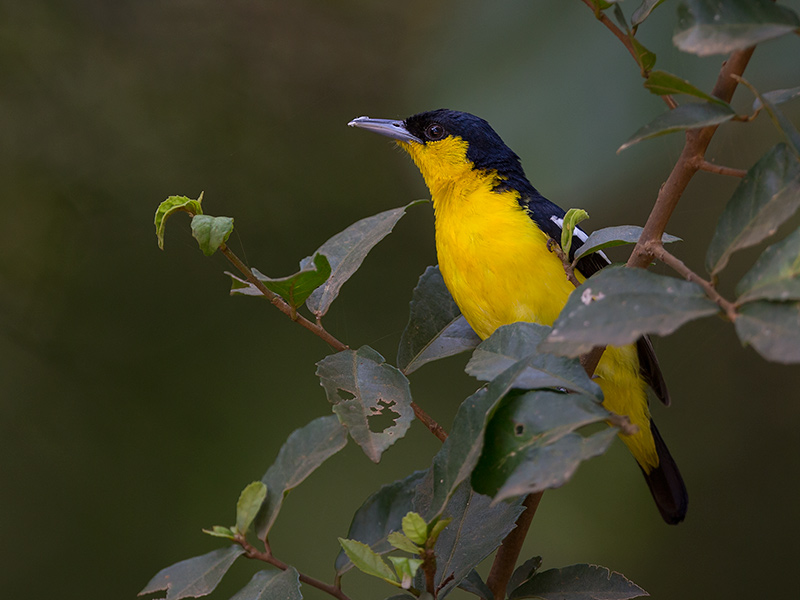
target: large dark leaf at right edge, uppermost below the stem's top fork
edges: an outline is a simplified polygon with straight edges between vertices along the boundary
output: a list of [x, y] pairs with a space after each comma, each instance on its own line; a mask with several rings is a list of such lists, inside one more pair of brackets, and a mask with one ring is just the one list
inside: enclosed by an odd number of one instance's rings
[[786, 144], [770, 149], [747, 172], [717, 222], [706, 253], [716, 275], [737, 250], [775, 233], [800, 206], [800, 161]]

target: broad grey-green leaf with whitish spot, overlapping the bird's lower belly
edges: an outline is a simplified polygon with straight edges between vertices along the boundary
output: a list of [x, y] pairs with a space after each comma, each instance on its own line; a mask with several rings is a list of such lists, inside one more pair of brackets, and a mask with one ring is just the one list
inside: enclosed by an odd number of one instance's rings
[[595, 346], [632, 344], [648, 333], [667, 335], [718, 311], [696, 283], [611, 266], [570, 294], [539, 349], [580, 356]]

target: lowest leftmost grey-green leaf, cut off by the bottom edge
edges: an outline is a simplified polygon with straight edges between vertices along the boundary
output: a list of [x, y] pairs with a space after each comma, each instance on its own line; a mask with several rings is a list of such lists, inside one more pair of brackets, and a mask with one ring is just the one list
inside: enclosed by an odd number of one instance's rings
[[160, 590], [167, 590], [166, 600], [207, 596], [242, 554], [244, 549], [237, 544], [182, 560], [156, 573], [139, 596]]

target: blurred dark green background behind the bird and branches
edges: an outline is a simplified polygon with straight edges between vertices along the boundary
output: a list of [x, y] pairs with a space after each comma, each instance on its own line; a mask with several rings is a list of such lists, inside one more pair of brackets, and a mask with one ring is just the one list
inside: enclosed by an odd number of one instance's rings
[[[674, 4], [640, 38], [660, 68], [710, 89], [722, 58], [672, 47]], [[798, 85], [799, 43], [764, 44], [746, 76]], [[795, 122], [798, 104], [786, 105]], [[682, 144], [615, 154], [664, 105], [577, 0], [0, 0], [4, 598], [135, 597], [162, 567], [217, 547], [200, 529], [232, 523], [288, 434], [328, 414], [314, 363], [329, 349], [266, 303], [230, 298], [230, 267], [203, 257], [183, 215], [159, 251], [157, 204], [204, 190], [207, 212], [236, 219], [231, 247], [287, 275], [358, 218], [427, 197], [405, 156], [346, 123], [441, 106], [488, 119], [590, 228], [642, 224]], [[710, 156], [746, 168], [777, 140], [762, 117], [723, 127]], [[670, 223], [697, 270], [735, 185], [701, 173]], [[430, 206], [413, 208], [326, 326], [392, 360], [432, 238]], [[758, 252], [734, 257], [724, 291]], [[800, 369], [765, 362], [716, 319], [655, 342], [674, 399], [655, 417], [690, 489], [686, 522], [661, 522], [616, 444], [545, 494], [522, 558], [601, 564], [656, 598], [793, 597]], [[412, 377], [445, 426], [476, 387], [466, 358]], [[437, 446], [419, 424], [377, 466], [348, 446], [290, 495], [276, 554], [331, 580], [355, 509]], [[215, 597], [256, 568], [237, 564]], [[345, 591], [392, 589], [351, 573]]]

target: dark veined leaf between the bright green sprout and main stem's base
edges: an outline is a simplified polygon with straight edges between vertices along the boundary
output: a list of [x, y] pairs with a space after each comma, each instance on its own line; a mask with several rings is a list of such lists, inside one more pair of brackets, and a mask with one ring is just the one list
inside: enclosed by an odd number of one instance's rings
[[476, 494], [469, 483], [463, 483], [450, 501], [444, 514], [452, 519], [434, 547], [436, 576], [434, 584], [439, 598], [444, 598], [484, 558], [489, 556], [516, 525], [522, 513], [520, 502], [491, 506], [491, 499]]

